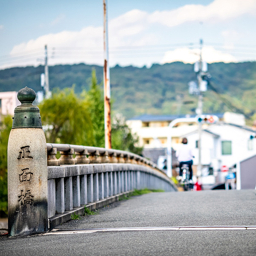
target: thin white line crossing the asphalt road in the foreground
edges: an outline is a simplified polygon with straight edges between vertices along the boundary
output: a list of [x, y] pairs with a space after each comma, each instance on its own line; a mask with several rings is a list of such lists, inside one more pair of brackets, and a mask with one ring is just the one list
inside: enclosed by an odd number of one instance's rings
[[99, 228], [84, 230], [58, 230], [54, 229], [46, 235], [67, 235], [67, 234], [84, 234], [96, 232], [125, 232], [125, 231], [182, 231], [182, 230], [256, 230], [256, 226], [209, 226], [209, 227], [115, 227], [115, 228]]

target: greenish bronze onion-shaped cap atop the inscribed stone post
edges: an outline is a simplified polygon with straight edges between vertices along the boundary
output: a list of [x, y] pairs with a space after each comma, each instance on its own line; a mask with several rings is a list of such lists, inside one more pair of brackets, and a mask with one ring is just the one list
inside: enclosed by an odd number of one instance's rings
[[21, 105], [14, 111], [12, 128], [42, 128], [39, 108], [33, 105], [36, 94], [29, 87], [22, 88], [17, 93]]

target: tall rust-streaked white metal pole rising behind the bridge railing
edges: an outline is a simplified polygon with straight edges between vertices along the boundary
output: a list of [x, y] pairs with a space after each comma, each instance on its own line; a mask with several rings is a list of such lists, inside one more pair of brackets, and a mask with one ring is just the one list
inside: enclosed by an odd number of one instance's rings
[[110, 76], [108, 64], [108, 18], [107, 0], [103, 0], [104, 12], [104, 119], [105, 119], [105, 148], [111, 148], [111, 106], [110, 106]]

